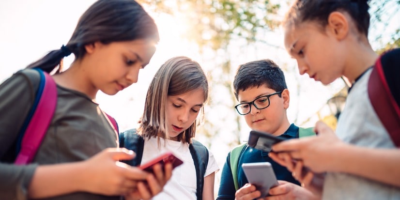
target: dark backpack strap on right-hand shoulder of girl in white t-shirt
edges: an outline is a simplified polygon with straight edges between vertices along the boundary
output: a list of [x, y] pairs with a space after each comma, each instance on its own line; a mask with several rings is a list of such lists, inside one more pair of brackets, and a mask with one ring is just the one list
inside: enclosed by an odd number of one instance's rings
[[197, 177], [196, 196], [198, 200], [202, 200], [204, 174], [208, 165], [208, 149], [204, 145], [202, 145], [199, 141], [192, 139], [192, 143], [189, 145], [189, 151], [190, 154], [192, 155], [196, 169], [196, 177]]

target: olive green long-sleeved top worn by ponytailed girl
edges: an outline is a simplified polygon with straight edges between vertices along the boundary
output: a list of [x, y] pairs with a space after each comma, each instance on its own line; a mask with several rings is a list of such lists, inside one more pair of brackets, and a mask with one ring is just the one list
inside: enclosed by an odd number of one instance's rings
[[[82, 161], [103, 149], [118, 147], [118, 136], [98, 104], [81, 92], [57, 86], [56, 110], [32, 164], [13, 165], [16, 138], [31, 109], [39, 81], [37, 71], [26, 69], [0, 85], [0, 199], [27, 199], [28, 185], [38, 165]], [[118, 200], [119, 197], [79, 192], [49, 199]]]

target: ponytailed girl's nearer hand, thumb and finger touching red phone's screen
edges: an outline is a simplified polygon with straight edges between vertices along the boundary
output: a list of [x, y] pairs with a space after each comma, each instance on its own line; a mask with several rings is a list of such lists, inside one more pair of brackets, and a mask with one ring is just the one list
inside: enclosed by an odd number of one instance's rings
[[134, 191], [138, 181], [148, 179], [149, 173], [131, 167], [119, 160], [135, 157], [125, 148], [108, 148], [83, 161], [82, 185], [84, 191], [102, 195], [123, 195]]

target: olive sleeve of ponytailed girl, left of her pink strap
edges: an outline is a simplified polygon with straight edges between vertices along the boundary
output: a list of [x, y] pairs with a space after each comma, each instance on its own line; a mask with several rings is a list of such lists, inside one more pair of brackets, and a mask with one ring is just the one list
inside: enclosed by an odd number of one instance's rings
[[36, 164], [13, 164], [16, 138], [33, 104], [34, 88], [38, 87], [40, 77], [37, 74], [32, 78], [38, 80], [36, 84], [32, 84], [25, 73], [18, 72], [0, 85], [0, 197], [4, 199], [27, 199], [28, 187], [37, 167]]

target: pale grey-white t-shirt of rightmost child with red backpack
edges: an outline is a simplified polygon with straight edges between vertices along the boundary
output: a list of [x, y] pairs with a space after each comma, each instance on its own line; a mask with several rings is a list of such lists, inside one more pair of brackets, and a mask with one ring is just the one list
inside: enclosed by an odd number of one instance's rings
[[[368, 97], [371, 70], [354, 83], [340, 114], [336, 134], [347, 143], [370, 148], [395, 149]], [[376, 163], [380, 165], [381, 163]], [[365, 166], [359, 166], [363, 168]], [[400, 189], [347, 173], [327, 173], [323, 200], [400, 200]]]

